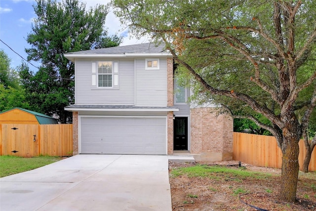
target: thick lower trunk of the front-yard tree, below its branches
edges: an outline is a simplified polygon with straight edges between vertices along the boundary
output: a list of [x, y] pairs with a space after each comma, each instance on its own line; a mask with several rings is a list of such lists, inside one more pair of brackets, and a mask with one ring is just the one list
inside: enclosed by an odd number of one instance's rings
[[282, 143], [282, 173], [279, 199], [283, 202], [293, 203], [296, 200], [296, 187], [298, 180], [298, 140], [295, 137], [284, 137]]

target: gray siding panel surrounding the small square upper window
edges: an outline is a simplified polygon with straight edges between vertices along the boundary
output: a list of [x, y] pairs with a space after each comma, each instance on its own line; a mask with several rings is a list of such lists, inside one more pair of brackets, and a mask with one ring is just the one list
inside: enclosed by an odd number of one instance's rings
[[159, 58], [159, 70], [145, 70], [145, 58], [136, 59], [136, 105], [167, 105], [167, 61]]

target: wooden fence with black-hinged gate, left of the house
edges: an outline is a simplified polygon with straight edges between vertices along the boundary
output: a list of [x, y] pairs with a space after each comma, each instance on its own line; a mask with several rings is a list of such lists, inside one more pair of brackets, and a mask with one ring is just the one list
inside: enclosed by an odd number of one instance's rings
[[0, 155], [20, 157], [39, 155], [70, 156], [72, 151], [72, 124], [0, 124]]

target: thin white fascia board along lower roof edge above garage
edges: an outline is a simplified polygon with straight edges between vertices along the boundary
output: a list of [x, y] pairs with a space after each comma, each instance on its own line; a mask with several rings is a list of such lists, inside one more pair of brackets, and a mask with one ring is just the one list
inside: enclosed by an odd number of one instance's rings
[[64, 108], [65, 111], [179, 111], [178, 108]]

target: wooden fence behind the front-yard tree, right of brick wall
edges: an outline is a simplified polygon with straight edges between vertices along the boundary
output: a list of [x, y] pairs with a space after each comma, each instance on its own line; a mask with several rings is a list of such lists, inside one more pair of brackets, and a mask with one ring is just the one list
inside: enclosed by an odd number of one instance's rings
[[[304, 141], [300, 140], [299, 164], [303, 167], [306, 150]], [[274, 136], [255, 135], [234, 132], [233, 160], [247, 164], [281, 169], [282, 152]], [[316, 171], [316, 149], [312, 153], [309, 171]]]

